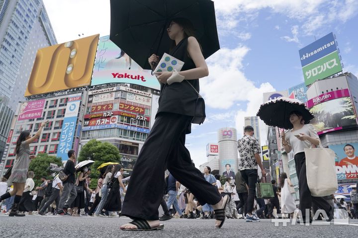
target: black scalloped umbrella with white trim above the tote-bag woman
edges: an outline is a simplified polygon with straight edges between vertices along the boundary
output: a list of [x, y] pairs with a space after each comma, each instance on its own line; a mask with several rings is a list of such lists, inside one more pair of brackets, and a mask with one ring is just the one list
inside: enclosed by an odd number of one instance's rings
[[279, 97], [265, 102], [260, 106], [257, 116], [269, 126], [292, 129], [293, 125], [289, 121], [289, 115], [292, 111], [300, 112], [305, 124], [308, 124], [314, 118], [304, 103], [287, 97]]

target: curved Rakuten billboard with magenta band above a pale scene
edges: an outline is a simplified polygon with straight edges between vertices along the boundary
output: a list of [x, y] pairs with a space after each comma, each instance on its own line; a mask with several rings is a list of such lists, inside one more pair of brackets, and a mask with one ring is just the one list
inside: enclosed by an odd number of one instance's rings
[[348, 89], [323, 93], [308, 100], [306, 105], [314, 115], [311, 123], [318, 135], [357, 127], [354, 105]]

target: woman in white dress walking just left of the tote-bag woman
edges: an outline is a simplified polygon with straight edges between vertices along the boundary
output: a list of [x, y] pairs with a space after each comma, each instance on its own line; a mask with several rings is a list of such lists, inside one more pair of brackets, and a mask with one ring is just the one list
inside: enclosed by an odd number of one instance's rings
[[293, 215], [294, 210], [296, 210], [296, 204], [294, 202], [293, 195], [290, 192], [289, 187], [293, 187], [291, 180], [287, 177], [286, 173], [282, 173], [280, 177], [280, 187], [281, 187], [281, 211], [282, 214]]

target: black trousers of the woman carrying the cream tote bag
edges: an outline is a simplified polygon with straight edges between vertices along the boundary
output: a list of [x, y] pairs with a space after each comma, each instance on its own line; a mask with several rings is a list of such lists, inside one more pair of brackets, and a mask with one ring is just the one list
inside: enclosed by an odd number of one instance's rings
[[[298, 177], [298, 191], [300, 196], [299, 209], [302, 212], [302, 217], [305, 220], [306, 209], [311, 211], [312, 202], [319, 208], [326, 211], [327, 215], [330, 216], [331, 205], [323, 197], [314, 197], [311, 195], [307, 183], [307, 172], [306, 172], [306, 155], [304, 152], [297, 153], [294, 157], [296, 172]], [[324, 178], [320, 178], [324, 179]], [[332, 208], [333, 209], [333, 208]]]

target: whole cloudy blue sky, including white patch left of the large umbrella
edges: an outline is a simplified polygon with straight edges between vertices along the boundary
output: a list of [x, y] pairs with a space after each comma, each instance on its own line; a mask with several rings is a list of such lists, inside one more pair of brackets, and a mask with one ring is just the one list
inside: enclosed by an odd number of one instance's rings
[[[109, 34], [107, 0], [44, 3], [59, 43]], [[333, 31], [344, 72], [358, 76], [357, 0], [215, 0], [215, 8], [221, 50], [207, 60], [209, 77], [200, 79], [207, 120], [186, 139], [197, 166], [206, 162], [206, 144], [217, 142], [219, 128], [242, 135], [244, 116], [256, 115], [264, 92], [303, 82], [298, 50], [315, 37]]]

